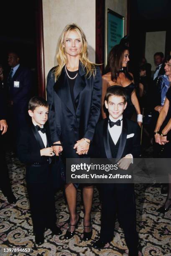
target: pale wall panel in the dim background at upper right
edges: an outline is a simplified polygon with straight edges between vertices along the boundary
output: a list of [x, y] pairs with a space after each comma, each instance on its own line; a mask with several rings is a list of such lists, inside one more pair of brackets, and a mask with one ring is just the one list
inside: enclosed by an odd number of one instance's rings
[[166, 31], [146, 32], [145, 58], [151, 64], [151, 70], [155, 70], [154, 54], [158, 51], [165, 52]]

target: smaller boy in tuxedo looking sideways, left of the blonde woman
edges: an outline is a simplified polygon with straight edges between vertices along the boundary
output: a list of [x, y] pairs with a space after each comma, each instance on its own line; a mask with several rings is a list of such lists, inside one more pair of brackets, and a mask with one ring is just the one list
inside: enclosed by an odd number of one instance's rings
[[[51, 162], [53, 149], [50, 133], [45, 125], [48, 119], [48, 103], [41, 97], [33, 97], [28, 104], [31, 126], [23, 128], [18, 141], [18, 157], [26, 164], [26, 183], [33, 221], [35, 242], [44, 242], [45, 228], [53, 234], [62, 232], [56, 226], [54, 190]], [[45, 127], [44, 127], [45, 125]]]

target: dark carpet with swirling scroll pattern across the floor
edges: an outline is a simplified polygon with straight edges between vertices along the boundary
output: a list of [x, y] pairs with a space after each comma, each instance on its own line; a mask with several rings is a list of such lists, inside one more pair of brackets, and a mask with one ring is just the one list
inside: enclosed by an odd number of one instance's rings
[[[9, 158], [9, 156], [8, 156]], [[50, 230], [45, 232], [45, 243], [36, 247], [30, 218], [29, 203], [26, 192], [25, 168], [18, 159], [8, 159], [12, 189], [17, 203], [10, 205], [0, 191], [0, 256], [1, 255], [47, 255], [47, 256], [126, 256], [128, 249], [125, 244], [123, 230], [118, 222], [115, 225], [114, 239], [103, 250], [92, 248], [93, 241], [100, 233], [100, 202], [98, 190], [94, 190], [92, 207], [92, 240], [85, 242], [83, 236], [83, 219], [80, 220], [74, 238], [64, 240], [68, 227], [69, 212], [63, 194], [56, 194], [56, 214], [58, 225], [63, 234], [53, 236]], [[149, 184], [148, 184], [149, 185]], [[139, 256], [171, 256], [171, 210], [165, 215], [158, 214], [156, 209], [164, 204], [166, 195], [160, 194], [160, 188], [147, 184], [136, 184], [137, 229], [140, 237]], [[78, 193], [78, 212], [83, 217], [83, 207]], [[129, 221], [129, 220], [128, 220]], [[3, 248], [31, 248], [30, 253], [6, 253]]]

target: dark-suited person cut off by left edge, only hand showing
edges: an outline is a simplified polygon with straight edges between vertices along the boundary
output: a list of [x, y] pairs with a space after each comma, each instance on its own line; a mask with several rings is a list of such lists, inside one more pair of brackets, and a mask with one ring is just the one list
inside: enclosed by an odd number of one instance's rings
[[16, 203], [16, 198], [13, 195], [10, 186], [10, 179], [8, 176], [8, 167], [5, 159], [5, 141], [3, 134], [6, 133], [8, 128], [6, 122], [6, 102], [5, 94], [2, 89], [0, 89], [0, 189], [3, 194], [7, 197], [7, 200], [10, 204]]

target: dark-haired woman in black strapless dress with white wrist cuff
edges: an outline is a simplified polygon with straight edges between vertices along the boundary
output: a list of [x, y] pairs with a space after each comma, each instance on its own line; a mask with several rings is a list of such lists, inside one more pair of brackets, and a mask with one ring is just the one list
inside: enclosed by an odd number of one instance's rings
[[135, 109], [138, 115], [138, 124], [141, 126], [143, 116], [140, 113], [140, 105], [135, 93], [133, 75], [126, 71], [128, 61], [129, 48], [125, 45], [115, 45], [109, 54], [106, 74], [102, 76], [102, 118], [107, 117], [104, 110], [104, 98], [107, 88], [112, 85], [120, 85], [127, 94], [128, 102], [123, 116], [130, 119]]

